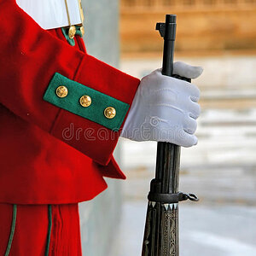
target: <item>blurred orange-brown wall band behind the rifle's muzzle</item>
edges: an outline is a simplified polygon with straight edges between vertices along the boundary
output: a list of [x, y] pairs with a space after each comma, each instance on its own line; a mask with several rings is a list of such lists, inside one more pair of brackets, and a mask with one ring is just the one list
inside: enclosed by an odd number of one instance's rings
[[168, 13], [177, 15], [176, 51], [185, 54], [255, 51], [255, 0], [211, 1], [124, 1], [122, 52], [161, 52], [163, 42], [154, 28]]

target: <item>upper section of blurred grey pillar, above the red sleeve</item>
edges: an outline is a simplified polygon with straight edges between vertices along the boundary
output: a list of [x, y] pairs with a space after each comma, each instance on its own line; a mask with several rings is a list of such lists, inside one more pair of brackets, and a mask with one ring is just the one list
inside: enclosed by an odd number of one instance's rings
[[119, 0], [82, 0], [84, 41], [90, 55], [108, 64], [119, 62]]

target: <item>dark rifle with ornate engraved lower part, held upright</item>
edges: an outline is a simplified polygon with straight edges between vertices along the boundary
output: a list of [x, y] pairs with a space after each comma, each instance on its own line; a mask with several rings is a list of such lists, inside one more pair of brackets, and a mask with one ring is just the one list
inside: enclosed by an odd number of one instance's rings
[[[156, 30], [164, 38], [162, 74], [172, 75], [176, 15], [166, 15], [166, 23], [157, 23]], [[180, 147], [158, 143], [155, 178], [150, 183], [148, 210], [143, 238], [143, 256], [178, 256], [178, 202], [199, 201], [194, 194], [178, 192]]]

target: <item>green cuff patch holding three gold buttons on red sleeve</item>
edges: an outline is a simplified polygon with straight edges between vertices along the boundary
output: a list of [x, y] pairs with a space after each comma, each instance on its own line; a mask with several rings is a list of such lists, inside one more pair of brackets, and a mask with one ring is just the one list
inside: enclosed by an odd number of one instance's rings
[[[56, 95], [56, 89], [59, 86], [67, 87], [67, 96], [61, 98]], [[81, 106], [79, 102], [81, 96], [90, 96], [91, 104], [89, 107]], [[44, 94], [44, 101], [115, 131], [119, 130], [130, 107], [129, 104], [105, 95], [98, 90], [93, 90], [84, 86], [84, 84], [67, 79], [60, 73], [55, 73], [53, 79], [49, 82]], [[104, 115], [104, 110], [108, 107], [113, 107], [116, 110], [113, 119], [108, 119]]]

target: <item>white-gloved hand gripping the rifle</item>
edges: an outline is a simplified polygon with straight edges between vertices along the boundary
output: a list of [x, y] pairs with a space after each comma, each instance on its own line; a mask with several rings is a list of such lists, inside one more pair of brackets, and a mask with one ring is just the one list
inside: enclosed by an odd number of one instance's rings
[[[196, 79], [202, 67], [175, 62], [173, 73]], [[144, 77], [131, 104], [121, 137], [133, 141], [157, 141], [191, 147], [197, 143], [196, 119], [201, 108], [200, 90], [186, 81], [174, 79], [155, 70]]]

